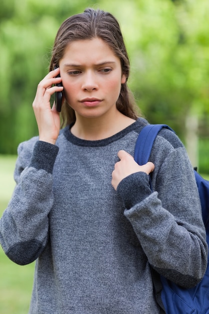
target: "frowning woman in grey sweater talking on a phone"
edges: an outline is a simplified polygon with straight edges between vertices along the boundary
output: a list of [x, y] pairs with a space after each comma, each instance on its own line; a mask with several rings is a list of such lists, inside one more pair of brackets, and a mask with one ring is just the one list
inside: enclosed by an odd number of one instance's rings
[[[39, 137], [19, 146], [17, 187], [0, 224], [9, 258], [36, 260], [30, 314], [159, 313], [150, 265], [184, 287], [204, 275], [192, 167], [167, 129], [150, 162], [134, 162], [148, 122], [137, 117], [128, 76], [111, 14], [88, 9], [61, 25], [33, 103]], [[63, 92], [61, 131], [55, 92]]]

